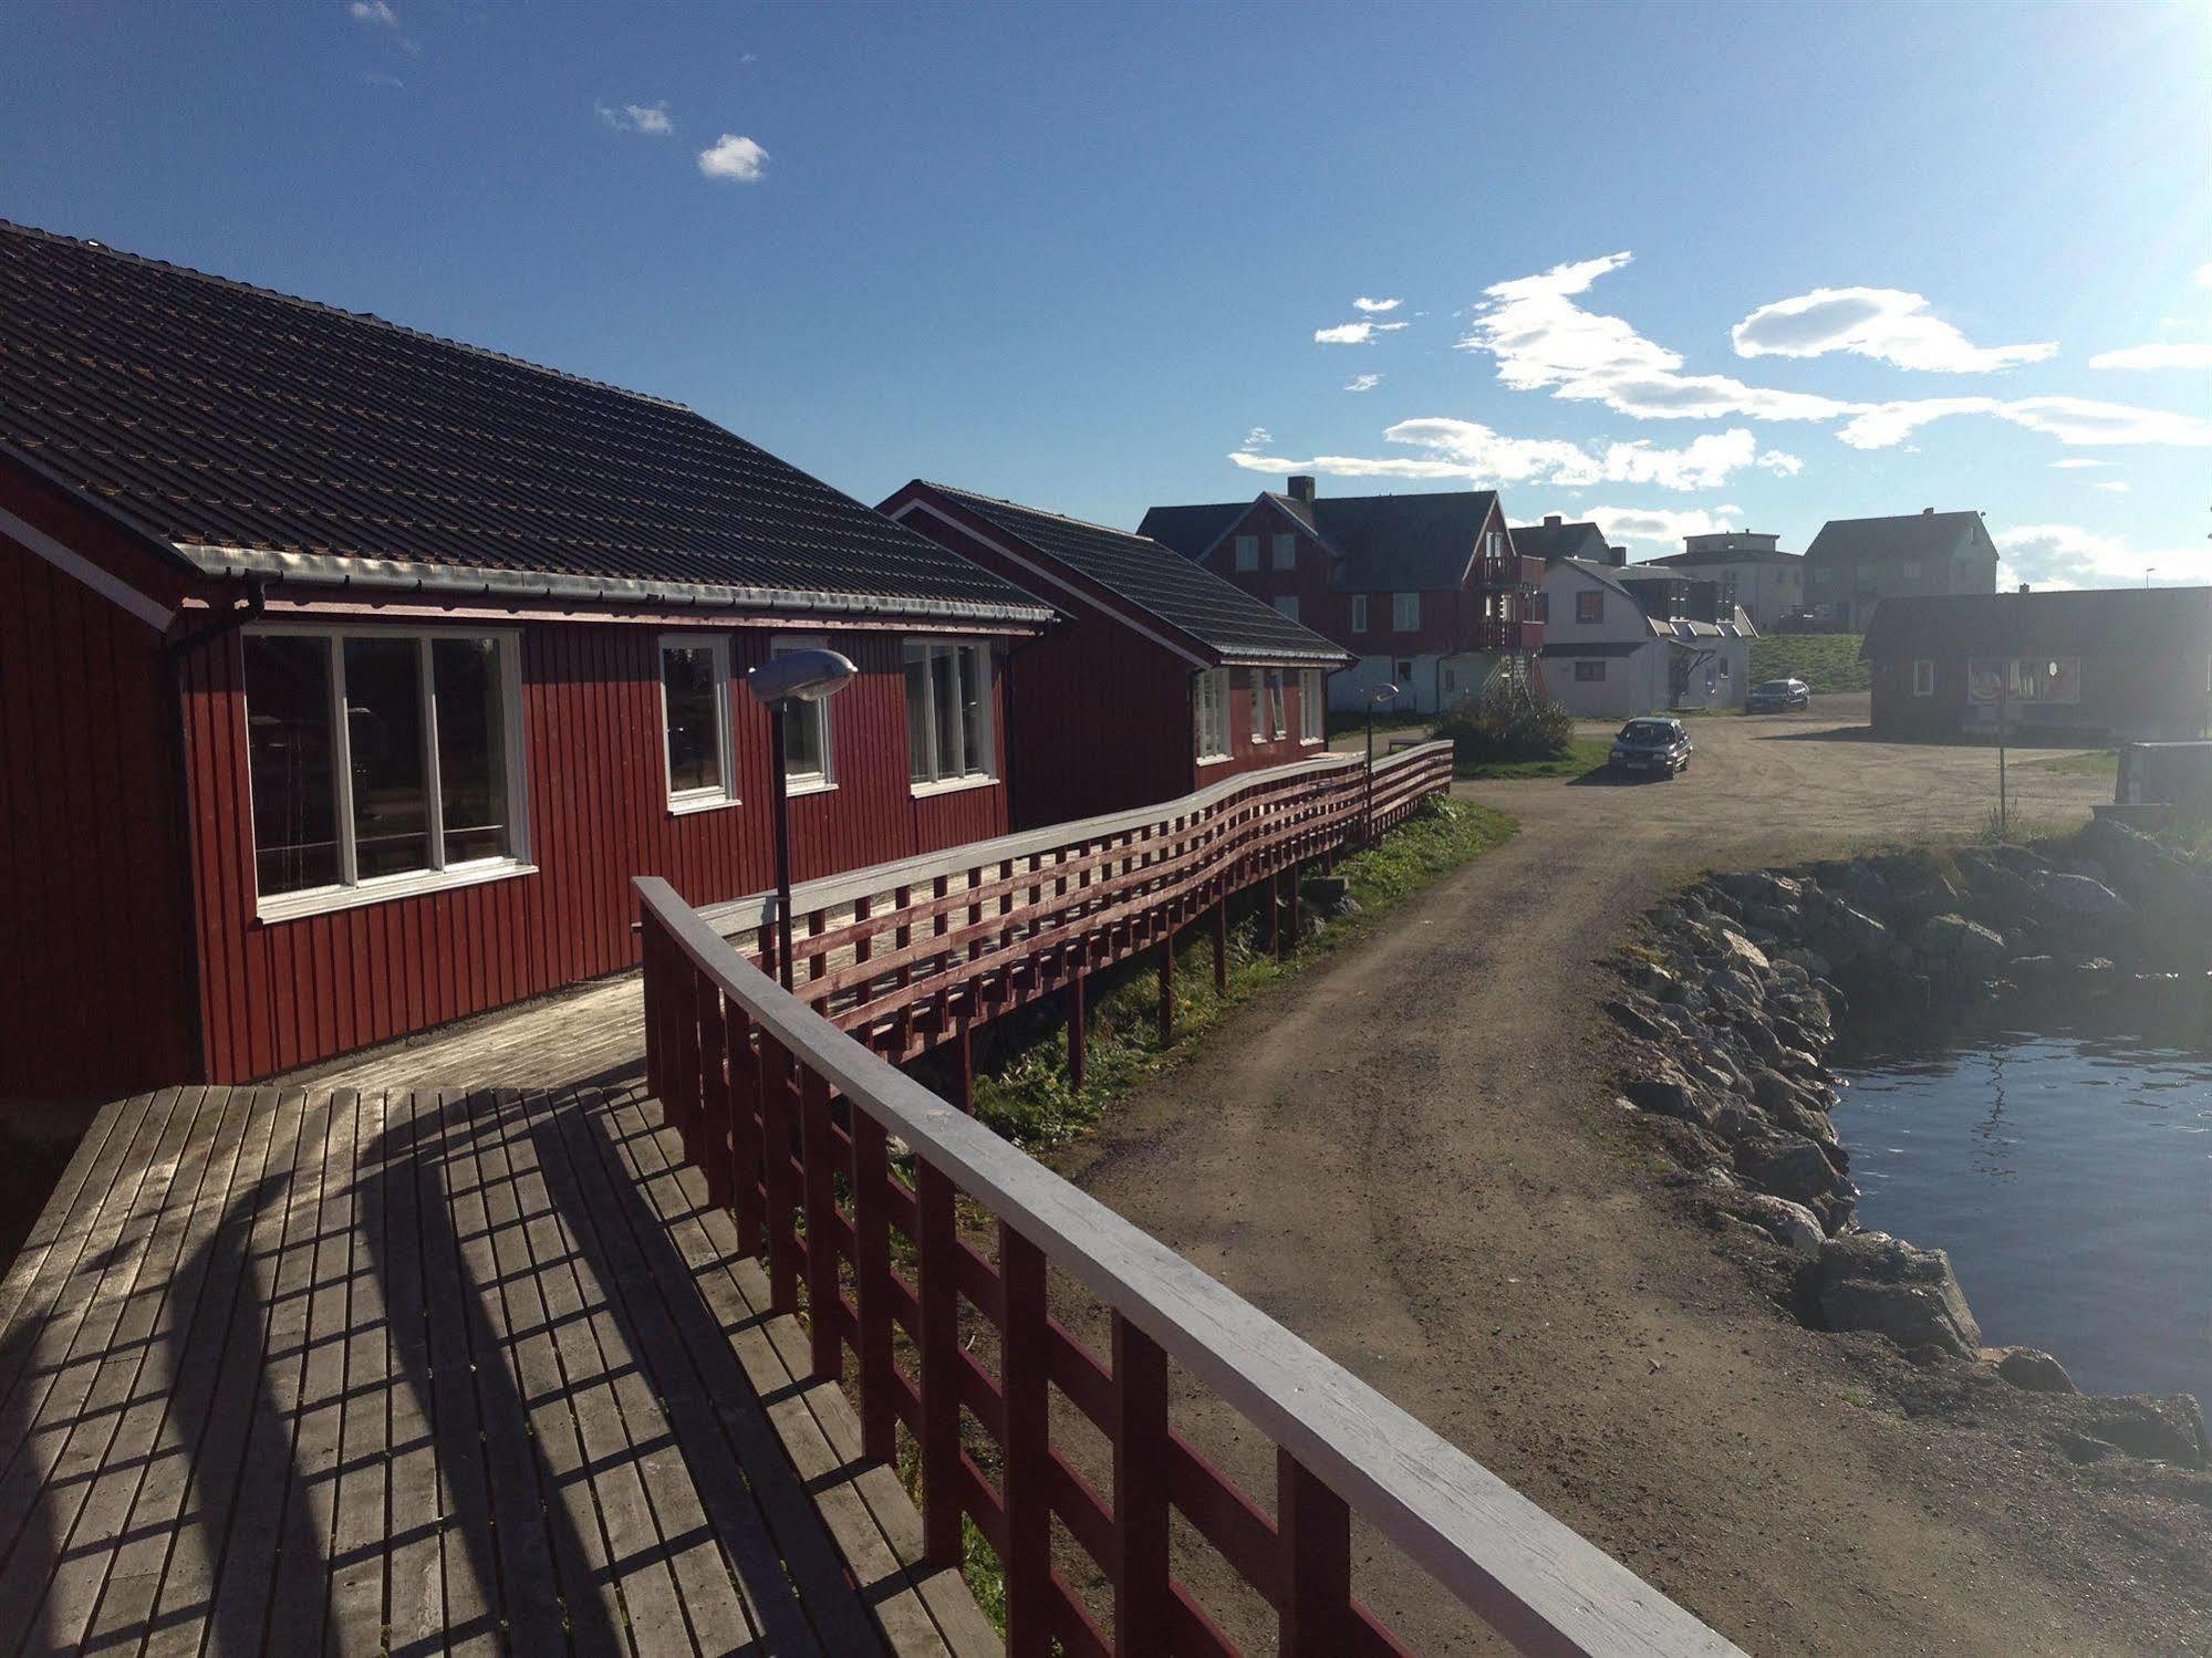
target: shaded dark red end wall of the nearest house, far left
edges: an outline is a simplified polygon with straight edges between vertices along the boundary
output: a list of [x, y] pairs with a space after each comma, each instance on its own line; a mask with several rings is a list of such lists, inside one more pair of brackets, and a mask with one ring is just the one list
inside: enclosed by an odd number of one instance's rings
[[195, 1072], [161, 639], [0, 537], [0, 1096]]

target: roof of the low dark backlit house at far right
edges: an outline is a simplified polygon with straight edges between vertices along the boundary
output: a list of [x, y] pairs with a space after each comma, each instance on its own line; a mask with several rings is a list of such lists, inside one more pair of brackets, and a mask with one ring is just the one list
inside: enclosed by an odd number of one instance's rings
[[2212, 657], [2212, 588], [2053, 588], [1882, 599], [1860, 657]]

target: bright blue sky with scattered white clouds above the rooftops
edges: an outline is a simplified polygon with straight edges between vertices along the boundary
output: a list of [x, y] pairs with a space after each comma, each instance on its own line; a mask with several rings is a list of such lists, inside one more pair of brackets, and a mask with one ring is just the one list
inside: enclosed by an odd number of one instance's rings
[[2212, 579], [2205, 4], [18, 0], [11, 38], [0, 214], [681, 398], [865, 500], [1135, 524], [1314, 462], [1637, 557], [1973, 506], [2037, 581]]

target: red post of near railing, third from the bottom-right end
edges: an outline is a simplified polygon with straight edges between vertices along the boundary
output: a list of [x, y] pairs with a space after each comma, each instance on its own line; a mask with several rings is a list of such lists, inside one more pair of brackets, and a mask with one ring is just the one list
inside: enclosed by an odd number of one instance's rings
[[1044, 1251], [998, 1222], [998, 1271], [1006, 1300], [1000, 1386], [1006, 1393], [1006, 1658], [1053, 1649], [1051, 1395], [1046, 1393]]

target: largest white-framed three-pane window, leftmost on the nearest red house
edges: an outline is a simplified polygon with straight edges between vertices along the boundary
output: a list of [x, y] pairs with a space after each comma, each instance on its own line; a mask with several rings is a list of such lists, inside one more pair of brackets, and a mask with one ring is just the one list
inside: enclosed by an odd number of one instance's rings
[[529, 867], [518, 634], [265, 623], [243, 652], [261, 920]]

